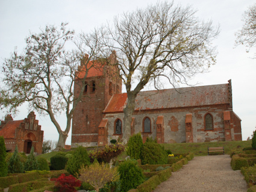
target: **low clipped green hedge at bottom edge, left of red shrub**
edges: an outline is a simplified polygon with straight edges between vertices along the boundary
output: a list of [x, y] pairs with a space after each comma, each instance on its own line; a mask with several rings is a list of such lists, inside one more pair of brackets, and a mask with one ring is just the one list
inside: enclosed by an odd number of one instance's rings
[[42, 179], [38, 179], [36, 181], [28, 181], [28, 182], [23, 182], [20, 184], [10, 185], [8, 192], [32, 191], [32, 190], [42, 188], [44, 186], [51, 185], [52, 183], [54, 183], [54, 181], [49, 181], [48, 178], [42, 178]]

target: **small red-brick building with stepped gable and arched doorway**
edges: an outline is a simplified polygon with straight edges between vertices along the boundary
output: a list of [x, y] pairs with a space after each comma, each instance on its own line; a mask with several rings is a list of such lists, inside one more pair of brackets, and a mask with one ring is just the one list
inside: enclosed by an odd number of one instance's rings
[[4, 137], [5, 147], [9, 152], [14, 152], [17, 145], [19, 152], [30, 153], [33, 146], [34, 152], [42, 153], [43, 131], [34, 112], [23, 120], [13, 120], [11, 115], [7, 115], [1, 121], [0, 135]]

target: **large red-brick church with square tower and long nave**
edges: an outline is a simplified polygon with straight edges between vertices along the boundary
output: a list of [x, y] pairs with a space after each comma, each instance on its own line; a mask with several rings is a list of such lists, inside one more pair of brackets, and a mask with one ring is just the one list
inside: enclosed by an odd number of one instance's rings
[[[114, 54], [108, 58], [116, 62]], [[92, 61], [89, 61], [89, 63]], [[84, 88], [72, 122], [71, 147], [103, 146], [122, 140], [123, 108], [118, 69], [111, 65], [92, 67], [81, 85], [84, 63], [76, 73], [74, 96]], [[131, 122], [131, 135], [140, 132], [143, 142], [201, 143], [242, 140], [241, 119], [233, 111], [231, 80], [226, 84], [141, 91]]]

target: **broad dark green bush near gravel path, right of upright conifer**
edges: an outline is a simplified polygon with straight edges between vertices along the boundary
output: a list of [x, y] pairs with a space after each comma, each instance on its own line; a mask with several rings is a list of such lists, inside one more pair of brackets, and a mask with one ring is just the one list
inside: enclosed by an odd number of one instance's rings
[[155, 142], [143, 144], [142, 164], [167, 164], [168, 155], [163, 146]]

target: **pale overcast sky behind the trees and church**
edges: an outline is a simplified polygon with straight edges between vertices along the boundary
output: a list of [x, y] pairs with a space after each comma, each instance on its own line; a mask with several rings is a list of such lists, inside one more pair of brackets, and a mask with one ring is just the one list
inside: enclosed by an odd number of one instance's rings
[[[25, 38], [38, 33], [46, 25], [67, 26], [75, 33], [90, 33], [113, 17], [136, 8], [145, 8], [157, 0], [0, 0], [0, 67], [5, 58], [17, 48], [19, 53], [25, 48]], [[161, 2], [161, 0], [160, 0]], [[213, 41], [217, 46], [217, 62], [210, 72], [196, 75], [191, 84], [226, 84], [232, 80], [233, 111], [242, 119], [242, 140], [251, 137], [256, 127], [256, 59], [252, 59], [256, 49], [246, 52], [243, 45], [235, 46], [234, 35], [242, 28], [242, 14], [253, 5], [253, 0], [175, 0], [175, 5], [192, 5], [200, 20], [212, 20], [213, 26], [220, 25], [220, 34]], [[183, 85], [181, 85], [183, 87]], [[164, 88], [172, 88], [170, 85]], [[22, 106], [14, 120], [27, 117], [29, 109]], [[37, 114], [37, 113], [36, 113]], [[0, 119], [5, 114], [0, 111]], [[58, 132], [49, 117], [39, 116], [39, 125], [45, 140], [58, 140]], [[64, 127], [65, 120], [59, 117]], [[71, 131], [66, 144], [71, 143]]]

